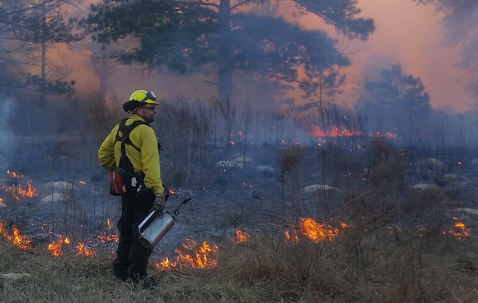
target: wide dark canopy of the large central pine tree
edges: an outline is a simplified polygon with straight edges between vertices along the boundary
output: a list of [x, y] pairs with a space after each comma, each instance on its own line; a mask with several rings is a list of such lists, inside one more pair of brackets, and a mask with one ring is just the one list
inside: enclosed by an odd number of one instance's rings
[[[347, 66], [337, 40], [323, 30], [307, 30], [282, 17], [254, 13], [265, 0], [105, 0], [82, 21], [101, 43], [117, 43], [122, 63], [145, 63], [179, 73], [217, 66], [219, 97], [232, 97], [232, 73], [261, 73], [296, 82], [310, 94], [317, 78]], [[350, 39], [366, 40], [371, 19], [359, 18], [356, 0], [294, 0]], [[304, 71], [304, 72], [303, 72]]]

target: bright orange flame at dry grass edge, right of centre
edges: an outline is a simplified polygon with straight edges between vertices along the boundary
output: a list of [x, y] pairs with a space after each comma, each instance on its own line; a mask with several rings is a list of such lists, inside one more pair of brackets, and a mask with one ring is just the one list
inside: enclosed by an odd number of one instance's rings
[[[339, 233], [338, 229], [334, 229], [330, 225], [325, 225], [323, 223], [318, 223], [314, 219], [311, 218], [299, 218], [299, 231], [302, 235], [306, 236], [310, 240], [314, 242], [320, 242], [323, 240], [331, 240], [333, 237], [337, 236]], [[340, 223], [342, 228], [348, 227], [346, 223]], [[297, 230], [294, 226], [292, 226], [292, 231], [284, 232], [285, 239], [293, 242], [298, 242], [299, 237], [297, 234]]]

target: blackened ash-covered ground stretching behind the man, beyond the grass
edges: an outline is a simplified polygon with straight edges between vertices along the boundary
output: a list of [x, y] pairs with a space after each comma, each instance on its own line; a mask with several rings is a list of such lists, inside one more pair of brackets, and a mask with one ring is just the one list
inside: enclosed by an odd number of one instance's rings
[[[192, 200], [181, 208], [152, 261], [173, 255], [185, 239], [217, 243], [233, 239], [236, 230], [283, 235], [299, 217], [333, 226], [339, 221], [354, 226], [367, 220], [443, 232], [462, 231], [455, 226], [459, 220], [471, 235], [476, 229], [478, 160], [473, 151], [450, 149], [447, 155], [433, 157], [393, 146], [386, 139], [351, 150], [251, 146], [245, 158], [240, 153], [231, 157], [224, 147], [211, 146], [209, 151], [214, 161], [172, 188], [175, 193], [166, 210], [172, 211], [187, 197]], [[46, 249], [63, 235], [92, 249], [114, 250], [120, 201], [105, 191], [107, 172], [82, 167], [72, 174], [75, 159], [55, 161], [55, 171], [46, 177], [32, 166], [25, 172], [12, 167], [1, 173], [0, 219], [7, 228], [15, 225], [38, 248]], [[70, 173], [62, 175], [61, 167]], [[163, 169], [166, 182], [180, 178], [168, 176], [168, 171]], [[19, 185], [25, 190], [28, 182], [33, 197], [19, 192]]]

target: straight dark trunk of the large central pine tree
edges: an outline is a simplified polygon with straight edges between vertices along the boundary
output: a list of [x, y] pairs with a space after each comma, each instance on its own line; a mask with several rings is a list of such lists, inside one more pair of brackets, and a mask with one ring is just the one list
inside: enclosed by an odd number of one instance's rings
[[219, 2], [219, 60], [218, 86], [219, 99], [229, 98], [232, 101], [232, 64], [231, 64], [231, 28], [230, 28], [230, 0]]

